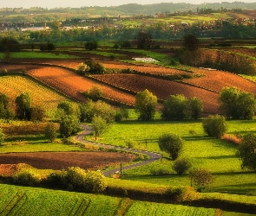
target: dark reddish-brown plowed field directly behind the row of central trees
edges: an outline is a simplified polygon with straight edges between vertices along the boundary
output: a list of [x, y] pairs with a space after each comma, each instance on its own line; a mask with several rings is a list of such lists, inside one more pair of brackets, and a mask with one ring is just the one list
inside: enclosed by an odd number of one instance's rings
[[115, 86], [126, 88], [132, 92], [141, 92], [148, 89], [149, 92], [153, 92], [157, 98], [161, 99], [167, 99], [173, 94], [184, 94], [187, 98], [201, 98], [204, 104], [204, 111], [210, 113], [219, 112], [217, 101], [219, 94], [194, 86], [135, 74], [95, 75], [95, 78]]

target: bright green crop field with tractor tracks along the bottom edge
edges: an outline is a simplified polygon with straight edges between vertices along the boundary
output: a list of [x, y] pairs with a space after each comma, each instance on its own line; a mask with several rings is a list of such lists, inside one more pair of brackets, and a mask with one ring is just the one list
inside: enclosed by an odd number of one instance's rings
[[[175, 206], [130, 200], [103, 195], [70, 193], [42, 188], [0, 185], [1, 215], [215, 215], [215, 209]], [[122, 206], [123, 205], [123, 206]], [[143, 213], [144, 211], [144, 213]], [[187, 213], [187, 214], [179, 214]], [[190, 213], [190, 214], [188, 214]], [[194, 214], [196, 213], [196, 214]], [[204, 214], [200, 214], [204, 213]]]

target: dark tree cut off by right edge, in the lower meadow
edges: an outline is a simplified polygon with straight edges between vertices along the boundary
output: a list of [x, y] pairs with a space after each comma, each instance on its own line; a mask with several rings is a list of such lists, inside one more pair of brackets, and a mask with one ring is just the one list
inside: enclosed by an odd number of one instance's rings
[[253, 133], [242, 137], [238, 153], [242, 160], [242, 168], [256, 171], [256, 136]]

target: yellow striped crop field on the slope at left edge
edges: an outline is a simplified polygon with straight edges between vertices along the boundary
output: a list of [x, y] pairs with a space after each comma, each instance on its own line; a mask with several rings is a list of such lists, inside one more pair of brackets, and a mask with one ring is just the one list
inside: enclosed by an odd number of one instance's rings
[[4, 76], [0, 78], [0, 92], [5, 93], [12, 105], [15, 98], [22, 92], [29, 92], [32, 105], [42, 105], [44, 109], [55, 109], [56, 105], [67, 98], [42, 86], [35, 81], [22, 76]]

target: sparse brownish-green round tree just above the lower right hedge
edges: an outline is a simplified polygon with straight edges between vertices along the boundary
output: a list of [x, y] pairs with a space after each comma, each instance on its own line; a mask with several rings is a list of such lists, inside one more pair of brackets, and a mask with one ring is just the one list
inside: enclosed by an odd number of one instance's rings
[[206, 190], [213, 183], [213, 175], [207, 168], [195, 168], [190, 172], [191, 182], [198, 190]]

